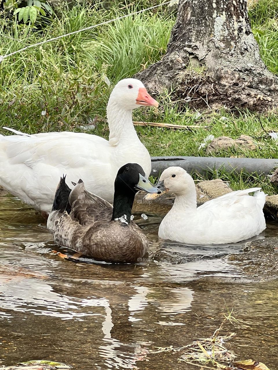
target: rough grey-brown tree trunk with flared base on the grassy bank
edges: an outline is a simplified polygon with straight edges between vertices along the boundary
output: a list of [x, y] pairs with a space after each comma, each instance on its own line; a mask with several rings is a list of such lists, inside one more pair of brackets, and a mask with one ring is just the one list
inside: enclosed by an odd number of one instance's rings
[[278, 105], [278, 77], [261, 60], [246, 0], [180, 0], [167, 53], [136, 78], [153, 94], [172, 86], [198, 108]]

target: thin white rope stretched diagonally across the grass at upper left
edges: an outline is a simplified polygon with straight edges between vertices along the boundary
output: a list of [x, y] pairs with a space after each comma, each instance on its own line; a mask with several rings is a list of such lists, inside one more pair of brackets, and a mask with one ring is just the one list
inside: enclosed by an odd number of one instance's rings
[[70, 33], [66, 33], [66, 34], [61, 35], [61, 36], [49, 38], [48, 40], [40, 41], [39, 43], [36, 43], [36, 44], [28, 45], [28, 46], [26, 46], [26, 47], [24, 47], [22, 49], [13, 51], [10, 54], [0, 55], [0, 63], [1, 63], [1, 61], [3, 61], [4, 59], [6, 59], [7, 57], [10, 57], [11, 55], [20, 53], [21, 51], [27, 50], [27, 49], [29, 49], [31, 47], [39, 46], [39, 45], [46, 44], [46, 43], [50, 43], [51, 41], [59, 40], [59, 38], [67, 37], [67, 36], [73, 35], [75, 33], [82, 32], [82, 31], [91, 30], [92, 28], [95, 28], [95, 27], [98, 27], [98, 26], [102, 26], [103, 24], [112, 23], [112, 22], [117, 21], [119, 19], [123, 19], [123, 18], [126, 18], [126, 17], [134, 16], [136, 14], [142, 13], [143, 11], [155, 9], [155, 8], [157, 8], [159, 6], [166, 5], [166, 4], [169, 4], [169, 3], [171, 3], [171, 1], [166, 1], [166, 3], [154, 5], [154, 6], [151, 6], [149, 8], [146, 8], [146, 9], [135, 11], [134, 13], [126, 14], [125, 16], [121, 16], [121, 17], [118, 17], [118, 18], [115, 18], [115, 19], [110, 19], [108, 21], [105, 21], [105, 22], [102, 22], [102, 23], [99, 23], [99, 24], [94, 24], [93, 26], [82, 28], [81, 30], [77, 30], [77, 31], [73, 31], [73, 32], [70, 32]]

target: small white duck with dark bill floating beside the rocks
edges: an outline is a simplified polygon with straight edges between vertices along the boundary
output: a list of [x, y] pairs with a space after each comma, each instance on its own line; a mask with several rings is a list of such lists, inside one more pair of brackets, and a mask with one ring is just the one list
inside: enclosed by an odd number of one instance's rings
[[[169, 190], [176, 195], [172, 209], [159, 226], [158, 236], [162, 239], [197, 245], [236, 243], [266, 228], [262, 211], [265, 193], [261, 188], [233, 191], [197, 208], [194, 181], [181, 167], [165, 169], [157, 188], [162, 194]], [[248, 195], [252, 192], [254, 196]], [[148, 194], [145, 199], [157, 196]]]

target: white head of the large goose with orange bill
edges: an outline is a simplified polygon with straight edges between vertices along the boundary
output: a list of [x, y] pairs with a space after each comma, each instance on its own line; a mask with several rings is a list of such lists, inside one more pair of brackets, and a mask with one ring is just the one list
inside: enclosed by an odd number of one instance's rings
[[142, 82], [135, 78], [120, 80], [113, 88], [109, 101], [126, 110], [132, 110], [142, 105], [158, 107], [158, 102], [150, 96]]

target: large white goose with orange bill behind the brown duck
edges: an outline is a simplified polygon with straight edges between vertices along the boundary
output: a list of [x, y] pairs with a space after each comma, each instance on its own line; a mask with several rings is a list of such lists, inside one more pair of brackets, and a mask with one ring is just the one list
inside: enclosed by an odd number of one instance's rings
[[141, 81], [126, 78], [114, 87], [108, 104], [109, 141], [77, 132], [47, 132], [0, 135], [0, 184], [23, 202], [48, 214], [59, 178], [67, 182], [82, 178], [90, 192], [113, 202], [118, 169], [138, 163], [148, 177], [148, 150], [140, 142], [132, 123], [132, 110], [158, 107]]

